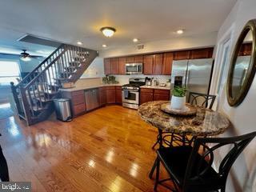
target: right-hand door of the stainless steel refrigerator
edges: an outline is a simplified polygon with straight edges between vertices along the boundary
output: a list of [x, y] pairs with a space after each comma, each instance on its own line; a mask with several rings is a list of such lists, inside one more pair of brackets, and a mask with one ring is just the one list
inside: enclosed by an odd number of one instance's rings
[[212, 58], [193, 59], [189, 61], [187, 88], [190, 92], [208, 94], [212, 66]]

